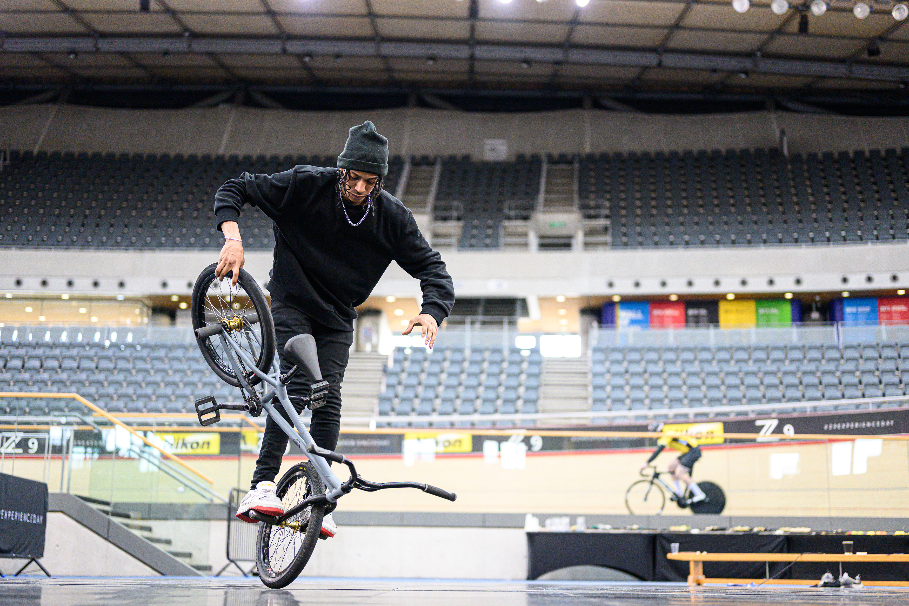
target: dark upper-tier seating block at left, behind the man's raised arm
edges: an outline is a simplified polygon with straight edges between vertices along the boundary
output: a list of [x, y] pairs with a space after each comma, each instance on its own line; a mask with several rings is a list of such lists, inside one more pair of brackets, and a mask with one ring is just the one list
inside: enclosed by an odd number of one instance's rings
[[[211, 248], [217, 188], [243, 172], [278, 173], [295, 164], [333, 166], [330, 156], [195, 154], [11, 154], [0, 173], [0, 245], [83, 248]], [[395, 192], [404, 161], [389, 161]], [[275, 244], [272, 222], [255, 208], [240, 218], [250, 249]]]

